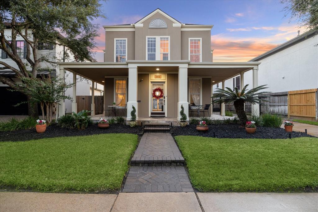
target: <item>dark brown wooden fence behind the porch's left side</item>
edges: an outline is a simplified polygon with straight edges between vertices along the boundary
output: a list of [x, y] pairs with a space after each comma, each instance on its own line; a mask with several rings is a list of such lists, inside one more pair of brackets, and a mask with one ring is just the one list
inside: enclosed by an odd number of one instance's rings
[[[104, 96], [95, 96], [95, 114], [102, 114]], [[92, 96], [76, 96], [77, 112], [81, 110], [91, 110]]]

